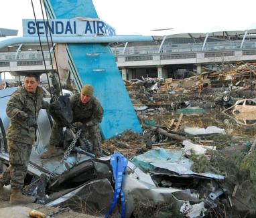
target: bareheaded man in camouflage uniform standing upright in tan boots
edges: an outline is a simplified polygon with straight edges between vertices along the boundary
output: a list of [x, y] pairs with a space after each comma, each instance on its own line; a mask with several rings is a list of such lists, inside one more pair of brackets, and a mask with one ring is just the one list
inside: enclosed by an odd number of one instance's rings
[[6, 108], [11, 122], [7, 130], [9, 167], [0, 176], [0, 195], [7, 197], [3, 185], [11, 183], [10, 203], [31, 203], [35, 197], [22, 195], [23, 183], [27, 173], [27, 164], [31, 148], [36, 140], [37, 118], [41, 108], [49, 108], [43, 100], [43, 90], [39, 76], [25, 76], [23, 87], [17, 89]]

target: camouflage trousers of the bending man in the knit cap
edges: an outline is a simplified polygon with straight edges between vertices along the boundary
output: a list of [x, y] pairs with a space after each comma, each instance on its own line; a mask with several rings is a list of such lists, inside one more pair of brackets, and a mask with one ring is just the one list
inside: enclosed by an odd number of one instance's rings
[[[101, 132], [99, 125], [93, 125], [84, 127], [82, 130], [82, 134], [92, 142], [92, 153], [96, 156], [100, 156], [102, 154], [101, 150]], [[63, 131], [62, 126], [54, 122], [52, 126], [52, 134], [50, 136], [50, 146], [60, 146], [63, 139]]]

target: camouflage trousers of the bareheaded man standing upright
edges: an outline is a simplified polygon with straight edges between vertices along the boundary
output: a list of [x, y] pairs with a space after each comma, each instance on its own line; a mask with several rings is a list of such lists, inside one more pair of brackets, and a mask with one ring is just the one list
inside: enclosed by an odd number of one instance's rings
[[9, 167], [0, 176], [4, 185], [11, 183], [12, 189], [23, 189], [27, 165], [31, 154], [31, 144], [7, 140], [9, 152]]

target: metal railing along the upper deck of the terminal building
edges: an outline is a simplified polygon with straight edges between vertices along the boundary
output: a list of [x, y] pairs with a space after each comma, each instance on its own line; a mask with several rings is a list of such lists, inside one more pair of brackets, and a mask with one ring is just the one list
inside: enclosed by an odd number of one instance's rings
[[[153, 55], [161, 60], [196, 58], [196, 53], [204, 53], [204, 58], [235, 56], [236, 50], [241, 50], [243, 56], [256, 54], [256, 40], [247, 40], [241, 47], [241, 41], [208, 42], [202, 51], [203, 43], [166, 43], [159, 53], [159, 45], [143, 45], [126, 47], [111, 47], [115, 60], [125, 57], [125, 62], [153, 60]], [[52, 54], [51, 54], [52, 55]], [[50, 60], [50, 53], [44, 51], [44, 58]], [[0, 67], [9, 66], [9, 62], [17, 62], [17, 66], [42, 65], [42, 51], [19, 51], [0, 53]], [[28, 62], [29, 61], [29, 62]]]

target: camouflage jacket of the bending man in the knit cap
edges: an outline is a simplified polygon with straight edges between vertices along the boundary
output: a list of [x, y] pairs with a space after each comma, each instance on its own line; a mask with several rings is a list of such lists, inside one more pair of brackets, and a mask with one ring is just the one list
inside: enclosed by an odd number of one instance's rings
[[92, 97], [89, 102], [82, 104], [80, 94], [74, 94], [74, 96], [70, 97], [70, 103], [74, 116], [73, 122], [86, 123], [87, 126], [101, 123], [103, 107], [97, 98]]

